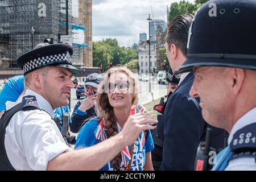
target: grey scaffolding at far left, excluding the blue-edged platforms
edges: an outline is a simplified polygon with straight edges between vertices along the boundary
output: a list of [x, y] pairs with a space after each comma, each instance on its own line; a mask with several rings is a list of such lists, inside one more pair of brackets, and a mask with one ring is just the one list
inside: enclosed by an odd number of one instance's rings
[[[46, 16], [40, 16], [40, 5]], [[55, 0], [3, 0], [0, 1], [0, 28], [9, 37], [10, 67], [16, 67], [16, 59], [43, 42], [49, 36], [57, 38], [59, 31], [59, 3]], [[34, 27], [34, 34], [31, 28]], [[33, 40], [33, 43], [32, 43]], [[3, 46], [3, 44], [1, 44]]]

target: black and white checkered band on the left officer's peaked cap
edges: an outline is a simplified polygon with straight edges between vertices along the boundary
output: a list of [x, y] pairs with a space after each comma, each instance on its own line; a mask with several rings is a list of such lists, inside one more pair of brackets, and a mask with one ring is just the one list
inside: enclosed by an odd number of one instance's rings
[[23, 65], [23, 74], [31, 70], [41, 68], [41, 67], [44, 67], [45, 65], [53, 64], [53, 63], [71, 64], [71, 56], [69, 52], [67, 51], [66, 53], [43, 56], [43, 57], [38, 57], [37, 59], [34, 59], [34, 60], [30, 60]]

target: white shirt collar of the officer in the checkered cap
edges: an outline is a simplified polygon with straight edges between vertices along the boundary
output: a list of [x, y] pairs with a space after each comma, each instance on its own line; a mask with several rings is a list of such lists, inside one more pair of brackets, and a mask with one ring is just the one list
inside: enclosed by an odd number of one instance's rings
[[[44, 97], [42, 97], [41, 95], [39, 95], [38, 93], [36, 93], [32, 90], [27, 89], [24, 96], [30, 96], [30, 95], [36, 97], [36, 100], [38, 101], [38, 106], [40, 109], [43, 109], [49, 115], [51, 115], [52, 118], [54, 118], [54, 112], [53, 112], [52, 106], [49, 104], [49, 102]], [[16, 104], [18, 104], [20, 102], [22, 102], [22, 97], [20, 97], [18, 99], [18, 101], [16, 101]]]

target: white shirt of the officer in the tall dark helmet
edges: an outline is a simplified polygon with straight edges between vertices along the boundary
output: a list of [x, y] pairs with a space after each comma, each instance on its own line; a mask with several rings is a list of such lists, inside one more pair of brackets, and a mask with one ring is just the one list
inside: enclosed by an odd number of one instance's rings
[[[233, 139], [233, 135], [243, 127], [250, 125], [252, 123], [256, 123], [256, 107], [251, 109], [245, 115], [243, 115], [233, 126], [232, 130], [230, 131], [228, 143]], [[237, 158], [230, 160], [228, 166], [225, 168], [225, 171], [237, 171], [237, 170], [256, 170], [256, 162], [255, 158], [253, 157], [245, 157], [245, 158]]]

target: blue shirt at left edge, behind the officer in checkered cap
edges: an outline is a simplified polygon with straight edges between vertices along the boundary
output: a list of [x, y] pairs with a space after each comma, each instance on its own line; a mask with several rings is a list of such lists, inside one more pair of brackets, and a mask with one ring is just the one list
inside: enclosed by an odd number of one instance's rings
[[24, 76], [11, 77], [3, 86], [0, 94], [0, 111], [5, 110], [6, 101], [15, 102], [24, 90]]

